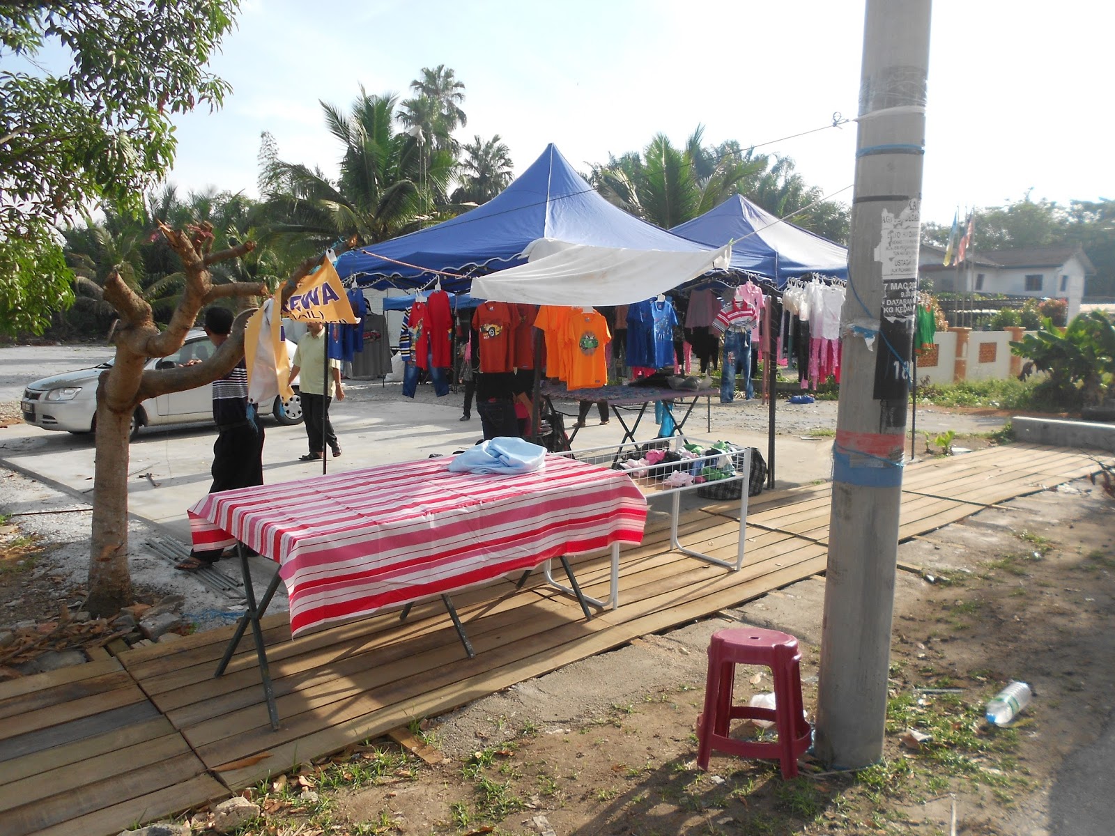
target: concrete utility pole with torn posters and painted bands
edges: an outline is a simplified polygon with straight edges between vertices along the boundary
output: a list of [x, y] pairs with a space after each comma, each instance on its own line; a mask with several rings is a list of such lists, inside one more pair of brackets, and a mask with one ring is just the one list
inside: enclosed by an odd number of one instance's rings
[[883, 754], [929, 17], [930, 0], [866, 3], [815, 737], [835, 768]]

